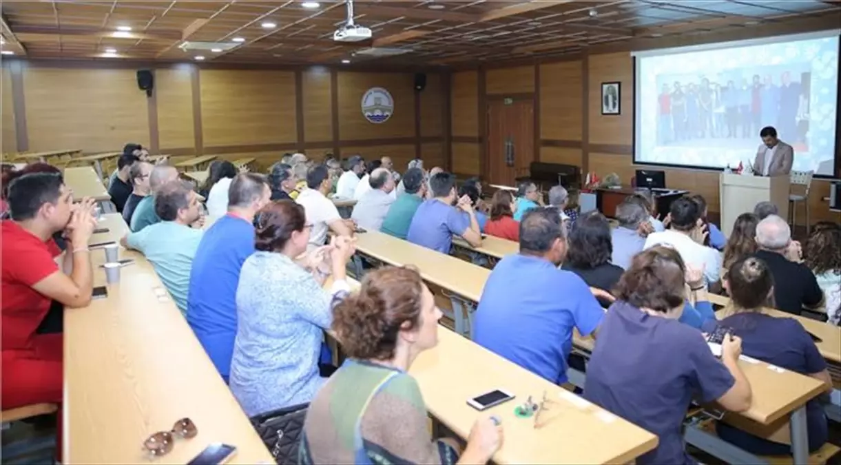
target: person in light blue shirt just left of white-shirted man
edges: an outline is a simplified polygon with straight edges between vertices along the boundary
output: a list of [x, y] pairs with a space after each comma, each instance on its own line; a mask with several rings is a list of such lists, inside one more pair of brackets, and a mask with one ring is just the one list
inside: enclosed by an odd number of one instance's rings
[[626, 198], [616, 206], [616, 220], [619, 224], [611, 230], [611, 263], [623, 270], [631, 266], [633, 256], [643, 251], [645, 246], [645, 238], [651, 227], [649, 216], [643, 202], [633, 197]]

